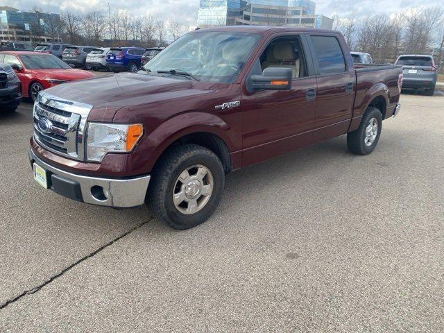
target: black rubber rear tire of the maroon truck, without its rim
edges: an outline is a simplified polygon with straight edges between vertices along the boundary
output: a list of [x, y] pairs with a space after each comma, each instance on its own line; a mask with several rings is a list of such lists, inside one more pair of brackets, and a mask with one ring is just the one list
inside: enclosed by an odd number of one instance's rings
[[[374, 141], [370, 146], [366, 145], [366, 128], [369, 126], [370, 120], [376, 119], [377, 133]], [[382, 130], [382, 114], [377, 108], [368, 108], [361, 119], [359, 128], [347, 135], [347, 146], [351, 153], [356, 155], [368, 155], [375, 149]]]

